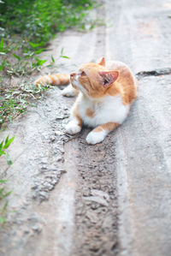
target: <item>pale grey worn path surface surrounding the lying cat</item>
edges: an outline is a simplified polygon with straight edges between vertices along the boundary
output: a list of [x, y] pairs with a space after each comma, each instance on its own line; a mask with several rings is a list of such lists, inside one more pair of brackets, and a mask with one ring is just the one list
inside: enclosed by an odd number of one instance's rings
[[103, 143], [88, 128], [64, 134], [74, 98], [47, 92], [1, 136], [15, 135], [8, 179], [9, 223], [0, 229], [5, 256], [169, 256], [171, 251], [171, 1], [103, 1], [92, 16], [106, 26], [67, 31], [42, 58], [70, 59], [44, 73], [72, 72], [105, 56], [139, 79], [131, 115]]

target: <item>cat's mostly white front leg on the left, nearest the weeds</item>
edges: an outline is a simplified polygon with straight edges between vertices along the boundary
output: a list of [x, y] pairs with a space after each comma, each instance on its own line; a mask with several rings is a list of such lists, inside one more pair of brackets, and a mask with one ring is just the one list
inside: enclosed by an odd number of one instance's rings
[[75, 103], [72, 109], [71, 121], [66, 125], [67, 134], [78, 134], [82, 128], [82, 120], [78, 112], [78, 104]]

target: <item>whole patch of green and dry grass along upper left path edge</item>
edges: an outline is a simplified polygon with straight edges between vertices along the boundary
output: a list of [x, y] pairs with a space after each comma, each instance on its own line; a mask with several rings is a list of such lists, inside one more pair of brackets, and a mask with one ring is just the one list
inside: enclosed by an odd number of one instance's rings
[[[39, 54], [57, 32], [69, 27], [85, 29], [90, 0], [6, 0], [0, 1], [0, 128], [27, 110], [30, 98], [39, 98], [50, 88], [32, 86], [29, 76], [47, 60]], [[64, 55], [63, 49], [60, 57]], [[55, 64], [54, 57], [51, 63]], [[27, 83], [12, 80], [26, 77]], [[23, 79], [22, 79], [23, 80]]]

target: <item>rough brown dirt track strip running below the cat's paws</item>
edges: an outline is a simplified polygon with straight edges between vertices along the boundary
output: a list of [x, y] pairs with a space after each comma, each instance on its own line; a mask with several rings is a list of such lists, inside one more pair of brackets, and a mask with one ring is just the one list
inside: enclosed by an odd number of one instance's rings
[[[71, 255], [117, 255], [117, 177], [115, 134], [102, 144], [87, 146], [80, 134], [77, 143], [78, 168], [75, 195], [74, 247]], [[110, 134], [111, 136], [111, 134]], [[72, 141], [75, 146], [74, 140]]]

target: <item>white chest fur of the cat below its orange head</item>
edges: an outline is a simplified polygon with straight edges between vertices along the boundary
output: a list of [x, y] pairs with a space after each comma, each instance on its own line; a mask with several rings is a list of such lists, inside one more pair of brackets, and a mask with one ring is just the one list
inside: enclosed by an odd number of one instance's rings
[[[107, 122], [123, 122], [127, 118], [129, 105], [122, 104], [121, 96], [106, 96], [100, 100], [91, 100], [80, 95], [77, 98], [78, 111], [85, 125], [92, 128]], [[87, 109], [91, 110], [92, 116], [87, 116]]]

